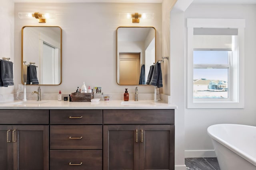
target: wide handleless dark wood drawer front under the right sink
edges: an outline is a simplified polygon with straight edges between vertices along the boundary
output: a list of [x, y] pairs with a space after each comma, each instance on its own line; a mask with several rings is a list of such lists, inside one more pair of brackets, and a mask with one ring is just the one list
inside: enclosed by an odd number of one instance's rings
[[109, 109], [104, 124], [174, 124], [174, 109]]

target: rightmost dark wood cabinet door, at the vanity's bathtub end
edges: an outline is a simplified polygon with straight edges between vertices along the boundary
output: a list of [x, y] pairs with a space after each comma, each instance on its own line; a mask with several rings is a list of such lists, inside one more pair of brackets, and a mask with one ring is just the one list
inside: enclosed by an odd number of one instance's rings
[[140, 170], [174, 170], [174, 125], [140, 126]]

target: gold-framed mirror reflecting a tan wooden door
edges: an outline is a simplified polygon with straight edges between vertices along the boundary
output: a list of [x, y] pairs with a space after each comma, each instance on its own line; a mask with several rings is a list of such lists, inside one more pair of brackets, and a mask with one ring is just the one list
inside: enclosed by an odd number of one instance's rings
[[146, 84], [150, 66], [156, 61], [154, 27], [117, 28], [117, 83]]

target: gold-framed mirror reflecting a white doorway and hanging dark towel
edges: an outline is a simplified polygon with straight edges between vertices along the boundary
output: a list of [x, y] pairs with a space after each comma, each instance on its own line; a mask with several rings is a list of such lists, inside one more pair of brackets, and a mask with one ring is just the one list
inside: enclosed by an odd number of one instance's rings
[[62, 80], [62, 29], [22, 27], [22, 84], [59, 85]]

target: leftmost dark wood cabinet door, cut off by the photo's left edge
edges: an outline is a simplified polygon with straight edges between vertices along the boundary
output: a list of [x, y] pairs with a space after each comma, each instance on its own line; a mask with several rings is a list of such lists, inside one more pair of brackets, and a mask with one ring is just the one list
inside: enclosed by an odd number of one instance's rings
[[0, 170], [12, 170], [12, 126], [0, 125]]

